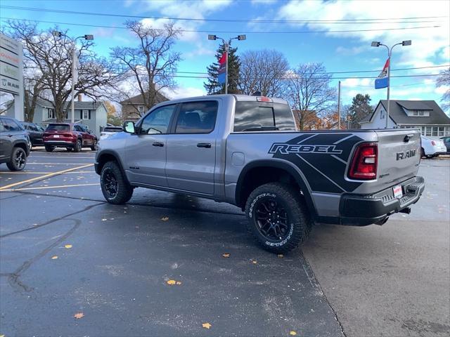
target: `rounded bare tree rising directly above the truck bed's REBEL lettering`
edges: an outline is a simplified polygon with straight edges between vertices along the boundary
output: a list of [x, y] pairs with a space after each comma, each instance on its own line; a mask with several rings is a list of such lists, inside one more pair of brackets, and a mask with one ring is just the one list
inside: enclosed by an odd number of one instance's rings
[[299, 65], [288, 74], [285, 95], [297, 126], [303, 130], [315, 117], [329, 114], [337, 99], [336, 89], [330, 87], [331, 74], [326, 74], [321, 63]]

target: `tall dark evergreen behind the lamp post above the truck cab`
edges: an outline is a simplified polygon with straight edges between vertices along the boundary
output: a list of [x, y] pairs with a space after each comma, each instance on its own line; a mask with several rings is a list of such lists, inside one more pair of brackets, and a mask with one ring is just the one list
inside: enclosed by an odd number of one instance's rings
[[[239, 56], [236, 55], [238, 48], [232, 48], [229, 46], [229, 58], [228, 58], [228, 93], [239, 93]], [[217, 81], [217, 75], [219, 71], [219, 59], [225, 52], [225, 44], [222, 43], [217, 49], [216, 62], [207, 67], [208, 79], [207, 83], [204, 83], [208, 95], [214, 95], [217, 93], [225, 93], [225, 84], [219, 84]]]

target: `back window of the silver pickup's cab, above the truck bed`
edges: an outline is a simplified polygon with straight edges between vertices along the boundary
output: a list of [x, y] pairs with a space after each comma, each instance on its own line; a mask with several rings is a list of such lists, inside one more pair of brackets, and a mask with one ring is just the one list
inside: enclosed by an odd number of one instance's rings
[[286, 104], [240, 101], [233, 131], [295, 131], [294, 117]]

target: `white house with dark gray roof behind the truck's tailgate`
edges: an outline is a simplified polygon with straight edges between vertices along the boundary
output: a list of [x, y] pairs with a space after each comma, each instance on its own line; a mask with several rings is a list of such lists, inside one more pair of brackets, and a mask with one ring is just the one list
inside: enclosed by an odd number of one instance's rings
[[[380, 100], [361, 128], [385, 128], [387, 100]], [[390, 100], [389, 128], [420, 128], [423, 136], [450, 136], [450, 117], [434, 100]]]

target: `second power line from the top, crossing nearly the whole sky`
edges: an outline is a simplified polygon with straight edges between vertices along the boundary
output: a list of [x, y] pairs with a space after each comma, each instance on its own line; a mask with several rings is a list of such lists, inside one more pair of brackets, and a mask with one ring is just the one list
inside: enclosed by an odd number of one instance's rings
[[[6, 20], [20, 20], [20, 21], [33, 21], [41, 23], [53, 23], [56, 25], [72, 25], [72, 26], [83, 26], [83, 27], [98, 27], [98, 28], [113, 28], [113, 29], [128, 29], [127, 27], [117, 27], [117, 26], [106, 26], [106, 25], [87, 25], [85, 23], [75, 23], [75, 22], [55, 22], [55, 21], [43, 21], [43, 20], [30, 20], [23, 18], [6, 18], [1, 17], [0, 19]], [[269, 31], [269, 32], [243, 32], [230, 31], [230, 30], [198, 30], [198, 29], [177, 29], [179, 32], [196, 32], [196, 33], [226, 33], [226, 34], [311, 34], [311, 33], [351, 33], [351, 32], [378, 32], [378, 31], [388, 31], [388, 30], [406, 30], [406, 29], [426, 29], [426, 28], [439, 28], [441, 26], [420, 26], [420, 27], [397, 27], [397, 28], [379, 28], [379, 29], [346, 29], [346, 30], [302, 30], [302, 31]], [[155, 31], [164, 31], [165, 29], [153, 29]]]

